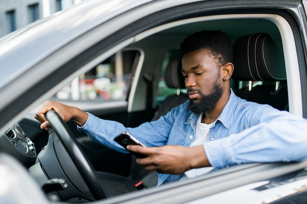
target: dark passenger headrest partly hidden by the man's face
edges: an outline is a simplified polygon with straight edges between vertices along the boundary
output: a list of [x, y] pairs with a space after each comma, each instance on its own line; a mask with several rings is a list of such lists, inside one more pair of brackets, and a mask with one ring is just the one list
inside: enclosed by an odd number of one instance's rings
[[171, 60], [165, 71], [164, 79], [169, 88], [185, 89], [184, 77], [181, 73], [181, 60]]

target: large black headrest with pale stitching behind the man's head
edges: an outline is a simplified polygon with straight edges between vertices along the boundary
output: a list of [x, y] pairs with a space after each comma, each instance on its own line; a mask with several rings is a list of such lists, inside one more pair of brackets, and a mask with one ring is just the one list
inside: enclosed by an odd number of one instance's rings
[[233, 44], [234, 70], [238, 81], [281, 81], [286, 79], [283, 53], [267, 33], [239, 38]]

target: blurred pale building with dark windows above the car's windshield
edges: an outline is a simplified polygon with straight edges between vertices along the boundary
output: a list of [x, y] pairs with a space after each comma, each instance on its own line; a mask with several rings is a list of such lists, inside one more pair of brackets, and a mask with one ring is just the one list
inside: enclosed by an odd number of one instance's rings
[[0, 0], [0, 37], [82, 0]]

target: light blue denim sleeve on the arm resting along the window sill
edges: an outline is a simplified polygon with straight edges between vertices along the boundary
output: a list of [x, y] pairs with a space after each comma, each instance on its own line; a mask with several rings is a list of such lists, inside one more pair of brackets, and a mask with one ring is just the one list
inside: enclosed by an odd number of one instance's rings
[[242, 163], [307, 160], [307, 136], [303, 130], [306, 124], [305, 119], [293, 118], [260, 123], [238, 134], [205, 142], [206, 157], [216, 169]]

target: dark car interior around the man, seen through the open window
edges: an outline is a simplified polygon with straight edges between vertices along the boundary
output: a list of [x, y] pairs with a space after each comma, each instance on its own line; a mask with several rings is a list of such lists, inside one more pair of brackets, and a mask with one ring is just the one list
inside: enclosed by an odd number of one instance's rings
[[[297, 75], [286, 71], [289, 65], [298, 69], [297, 58], [289, 55], [296, 49], [288, 27], [289, 23], [276, 14], [201, 16], [164, 23], [136, 34], [133, 43], [67, 81], [50, 99], [127, 127], [156, 120], [188, 100], [179, 44], [186, 35], [207, 29], [230, 36], [235, 67], [231, 89], [238, 96], [302, 115], [302, 105], [297, 105], [293, 91], [300, 89], [300, 82]], [[80, 173], [60, 136], [39, 128], [33, 114], [36, 110], [0, 137], [0, 149], [23, 163], [50, 200], [97, 199], [93, 187], [82, 177], [86, 172]], [[105, 197], [155, 187], [157, 173], [146, 172], [134, 156], [95, 143], [72, 121], [67, 126], [80, 154], [101, 181]]]

